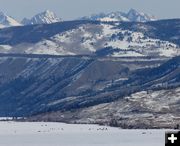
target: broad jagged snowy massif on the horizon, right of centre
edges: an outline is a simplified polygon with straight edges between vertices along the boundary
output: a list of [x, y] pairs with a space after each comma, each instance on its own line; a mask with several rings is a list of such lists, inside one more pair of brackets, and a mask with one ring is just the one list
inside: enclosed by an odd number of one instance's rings
[[152, 15], [138, 12], [135, 9], [130, 9], [128, 13], [124, 12], [111, 12], [108, 14], [100, 13], [91, 16], [85, 16], [80, 18], [82, 20], [98, 20], [98, 21], [130, 21], [130, 22], [147, 22], [154, 21], [156, 18]]

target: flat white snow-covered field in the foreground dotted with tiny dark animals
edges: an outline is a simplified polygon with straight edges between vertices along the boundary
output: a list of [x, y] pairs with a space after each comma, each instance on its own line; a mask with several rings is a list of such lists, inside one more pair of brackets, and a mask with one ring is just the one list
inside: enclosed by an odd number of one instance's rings
[[164, 146], [165, 130], [0, 122], [0, 146]]

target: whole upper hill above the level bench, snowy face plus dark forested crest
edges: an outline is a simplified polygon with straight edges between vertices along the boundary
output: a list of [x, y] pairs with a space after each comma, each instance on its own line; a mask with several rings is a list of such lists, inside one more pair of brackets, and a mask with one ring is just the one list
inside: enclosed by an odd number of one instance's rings
[[[67, 21], [24, 26], [0, 31], [0, 53], [174, 57], [180, 55], [178, 24]], [[160, 25], [166, 26], [163, 32]]]

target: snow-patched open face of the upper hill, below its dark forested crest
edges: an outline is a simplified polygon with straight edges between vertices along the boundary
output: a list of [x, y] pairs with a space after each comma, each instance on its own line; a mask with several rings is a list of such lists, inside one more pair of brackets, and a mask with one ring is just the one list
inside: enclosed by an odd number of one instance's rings
[[22, 43], [7, 47], [1, 53], [50, 55], [166, 56], [180, 55], [179, 46], [147, 37], [142, 32], [115, 28], [111, 24], [87, 24], [58, 33], [35, 44]]

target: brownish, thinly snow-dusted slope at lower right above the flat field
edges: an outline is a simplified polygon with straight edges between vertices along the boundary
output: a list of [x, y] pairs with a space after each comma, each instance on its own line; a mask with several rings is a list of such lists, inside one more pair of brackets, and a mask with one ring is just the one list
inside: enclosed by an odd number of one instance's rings
[[[123, 128], [175, 128], [180, 120], [179, 101], [180, 88], [149, 90], [137, 92], [111, 103], [71, 113], [55, 112], [44, 117], [52, 118], [54, 114], [57, 117], [61, 115], [71, 123], [106, 123]], [[68, 119], [69, 115], [76, 119]]]

